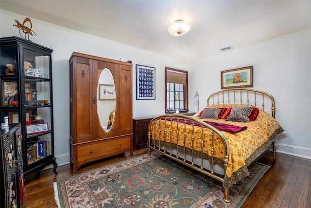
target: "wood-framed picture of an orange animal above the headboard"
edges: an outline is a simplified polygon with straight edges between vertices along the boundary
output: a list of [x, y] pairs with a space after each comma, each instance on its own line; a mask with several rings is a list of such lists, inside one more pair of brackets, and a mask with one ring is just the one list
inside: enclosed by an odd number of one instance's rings
[[221, 87], [253, 87], [253, 66], [230, 69], [221, 72]]

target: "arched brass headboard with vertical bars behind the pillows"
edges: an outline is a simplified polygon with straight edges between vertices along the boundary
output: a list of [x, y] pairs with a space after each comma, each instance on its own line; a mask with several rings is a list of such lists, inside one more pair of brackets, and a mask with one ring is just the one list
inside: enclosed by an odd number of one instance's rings
[[[261, 107], [257, 105], [258, 102], [261, 102]], [[275, 118], [276, 107], [273, 96], [266, 92], [253, 89], [235, 88], [218, 91], [208, 96], [207, 107], [217, 104], [240, 104], [253, 105], [264, 110], [266, 102], [268, 102], [269, 105], [271, 104], [271, 115]]]

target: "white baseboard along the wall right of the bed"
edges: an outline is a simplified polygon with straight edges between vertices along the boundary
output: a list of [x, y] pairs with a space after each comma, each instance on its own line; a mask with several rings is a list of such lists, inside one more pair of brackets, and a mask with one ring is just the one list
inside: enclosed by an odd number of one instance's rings
[[280, 144], [276, 147], [276, 151], [284, 154], [289, 154], [297, 157], [302, 157], [306, 159], [311, 159], [311, 149], [310, 148], [303, 148], [297, 147], [293, 145], [287, 144]]

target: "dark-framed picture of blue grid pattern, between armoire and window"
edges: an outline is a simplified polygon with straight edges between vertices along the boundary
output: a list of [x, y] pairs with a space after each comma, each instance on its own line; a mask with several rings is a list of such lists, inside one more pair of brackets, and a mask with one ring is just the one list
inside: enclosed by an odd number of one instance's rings
[[155, 67], [136, 64], [136, 99], [155, 100]]

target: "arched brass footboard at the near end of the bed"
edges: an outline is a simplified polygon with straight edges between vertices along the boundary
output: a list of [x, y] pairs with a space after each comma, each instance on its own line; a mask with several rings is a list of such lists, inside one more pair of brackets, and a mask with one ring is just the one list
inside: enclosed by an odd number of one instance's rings
[[[173, 121], [177, 121], [177, 131], [176, 133], [173, 133]], [[165, 128], [161, 129], [160, 126], [164, 125]], [[191, 134], [191, 143], [190, 148], [186, 148], [186, 125], [190, 124], [192, 134]], [[156, 130], [156, 125], [159, 125], [158, 130]], [[201, 135], [195, 134], [194, 130], [195, 128], [201, 129]], [[211, 154], [209, 155], [209, 158], [206, 158], [206, 154], [203, 152], [203, 147], [205, 145], [205, 142], [208, 142], [206, 139], [204, 139], [204, 133], [203, 129], [209, 129], [211, 131]], [[157, 131], [157, 132], [156, 132]], [[182, 132], [179, 132], [182, 131]], [[188, 125], [188, 132], [189, 132], [189, 125]], [[179, 136], [182, 135], [182, 136]], [[189, 135], [188, 135], [189, 136]], [[216, 128], [212, 127], [211, 125], [200, 121], [199, 119], [196, 119], [194, 117], [181, 115], [181, 114], [166, 114], [162, 116], [155, 117], [150, 121], [149, 124], [149, 130], [148, 130], [148, 156], [150, 157], [151, 150], [160, 152], [162, 154], [165, 154], [167, 157], [178, 161], [191, 169], [197, 170], [199, 172], [202, 172], [203, 174], [206, 174], [209, 177], [212, 177], [216, 180], [219, 180], [221, 182], [224, 182], [224, 178], [219, 176], [218, 174], [214, 173], [214, 161], [218, 158], [214, 158], [214, 139], [216, 138], [221, 139], [221, 141], [224, 144], [224, 160], [223, 167], [225, 169], [224, 172], [226, 172], [226, 167], [228, 166], [228, 158], [229, 158], [229, 145], [228, 142], [223, 135], [222, 132], [217, 130]], [[175, 138], [174, 138], [175, 137]], [[181, 137], [181, 138], [180, 138]], [[173, 145], [173, 140], [176, 141], [177, 145]], [[198, 155], [198, 150], [195, 150], [194, 148], [194, 140], [201, 140], [201, 150], [199, 151], [200, 155]], [[180, 143], [183, 143], [183, 145], [178, 145]], [[188, 145], [189, 146], [189, 145]], [[162, 147], [162, 148], [161, 148]], [[164, 147], [164, 148], [163, 148]], [[187, 152], [191, 155], [191, 159], [186, 160], [186, 149]], [[175, 153], [173, 154], [172, 151]], [[200, 157], [200, 164], [194, 163], [195, 153], [196, 157]], [[183, 157], [179, 157], [179, 153], [183, 155]], [[203, 166], [204, 159], [209, 159], [211, 164], [211, 170], [207, 170]], [[218, 159], [219, 160], [219, 159]], [[229, 189], [225, 189], [224, 191], [224, 201], [230, 202], [229, 199]]]

